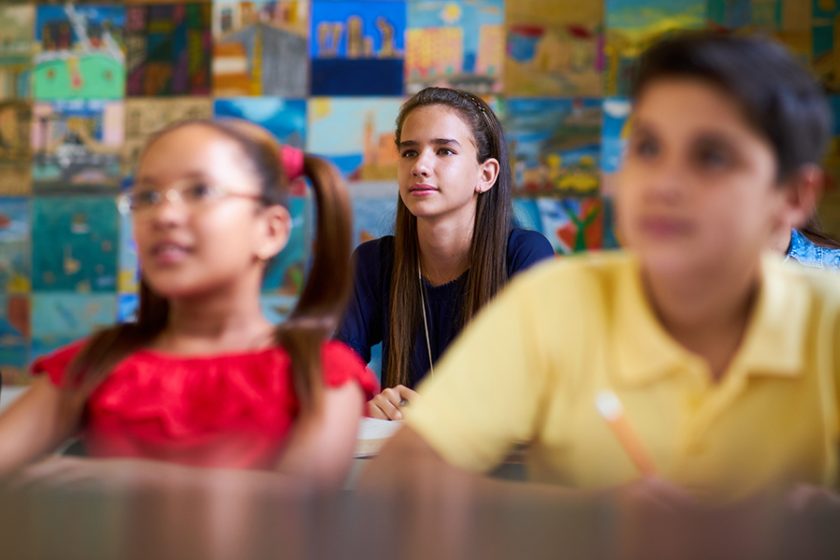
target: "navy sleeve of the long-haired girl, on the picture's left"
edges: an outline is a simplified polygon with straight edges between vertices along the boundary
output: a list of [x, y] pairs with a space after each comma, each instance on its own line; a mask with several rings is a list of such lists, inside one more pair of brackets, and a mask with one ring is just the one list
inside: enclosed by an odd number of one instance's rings
[[370, 349], [382, 341], [382, 313], [387, 287], [382, 286], [381, 239], [359, 245], [353, 252], [353, 291], [336, 339], [352, 348], [367, 364]]

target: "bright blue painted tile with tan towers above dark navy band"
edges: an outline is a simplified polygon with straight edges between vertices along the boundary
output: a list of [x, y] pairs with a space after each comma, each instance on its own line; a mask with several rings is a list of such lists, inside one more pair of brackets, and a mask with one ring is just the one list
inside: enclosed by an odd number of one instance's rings
[[402, 95], [403, 0], [315, 0], [312, 95]]

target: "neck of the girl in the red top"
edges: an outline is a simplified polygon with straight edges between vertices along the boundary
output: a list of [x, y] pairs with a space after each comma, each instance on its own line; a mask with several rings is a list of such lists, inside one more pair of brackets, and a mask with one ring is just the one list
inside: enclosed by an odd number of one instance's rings
[[273, 326], [258, 294], [252, 289], [170, 299], [169, 320], [155, 346], [177, 354], [212, 354], [270, 345]]

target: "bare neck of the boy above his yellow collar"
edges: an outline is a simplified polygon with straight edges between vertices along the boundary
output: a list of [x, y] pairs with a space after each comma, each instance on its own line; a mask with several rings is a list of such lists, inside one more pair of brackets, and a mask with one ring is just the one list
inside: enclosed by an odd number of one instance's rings
[[[706, 360], [714, 381], [734, 358], [760, 283], [756, 266], [740, 274], [692, 272], [685, 277], [643, 275], [645, 290], [665, 330]], [[720, 281], [721, 277], [727, 281]]]

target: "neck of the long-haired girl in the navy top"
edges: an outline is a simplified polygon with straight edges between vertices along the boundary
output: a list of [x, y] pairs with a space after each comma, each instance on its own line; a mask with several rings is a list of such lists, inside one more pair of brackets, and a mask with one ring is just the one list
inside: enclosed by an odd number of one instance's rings
[[417, 242], [423, 276], [433, 285], [461, 276], [470, 266], [473, 221], [417, 220]]

